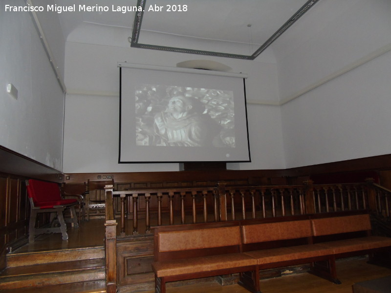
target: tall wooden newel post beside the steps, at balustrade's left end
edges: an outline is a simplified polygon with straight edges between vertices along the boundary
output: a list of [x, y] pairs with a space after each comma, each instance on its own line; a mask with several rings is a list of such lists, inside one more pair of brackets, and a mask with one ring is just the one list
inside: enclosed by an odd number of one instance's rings
[[113, 209], [113, 186], [105, 187], [106, 221], [105, 221], [105, 254], [106, 254], [106, 292], [117, 292], [117, 222]]

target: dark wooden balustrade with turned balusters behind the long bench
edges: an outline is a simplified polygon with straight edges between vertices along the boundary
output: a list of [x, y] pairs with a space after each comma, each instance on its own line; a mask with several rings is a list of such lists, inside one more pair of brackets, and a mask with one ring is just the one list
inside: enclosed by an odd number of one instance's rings
[[[235, 221], [308, 213], [368, 209], [368, 184], [175, 187], [112, 191], [120, 199], [119, 235], [151, 233], [152, 226]], [[391, 196], [391, 193], [390, 193]], [[375, 195], [389, 212], [390, 197]], [[107, 207], [108, 208], [108, 207]], [[111, 210], [111, 208], [110, 208]], [[127, 227], [127, 220], [132, 227]], [[141, 222], [140, 222], [141, 221]], [[141, 229], [141, 230], [140, 230]]]

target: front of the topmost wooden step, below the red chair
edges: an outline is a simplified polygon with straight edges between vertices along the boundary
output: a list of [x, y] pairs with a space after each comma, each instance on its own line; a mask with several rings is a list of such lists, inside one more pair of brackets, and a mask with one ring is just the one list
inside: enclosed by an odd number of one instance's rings
[[58, 251], [10, 253], [7, 255], [7, 268], [104, 257], [105, 250], [103, 246]]

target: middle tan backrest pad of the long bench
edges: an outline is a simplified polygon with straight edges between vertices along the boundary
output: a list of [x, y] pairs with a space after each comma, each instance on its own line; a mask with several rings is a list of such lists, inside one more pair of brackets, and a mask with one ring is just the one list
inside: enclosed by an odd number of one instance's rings
[[[271, 245], [275, 246], [278, 245], [276, 241], [301, 238], [305, 238], [305, 240], [299, 244], [304, 244], [312, 236], [311, 222], [309, 220], [243, 225], [241, 233], [243, 245], [247, 245], [247, 247], [251, 247], [250, 245], [254, 243], [272, 241], [274, 243]], [[254, 249], [256, 248], [261, 247], [254, 247]]]

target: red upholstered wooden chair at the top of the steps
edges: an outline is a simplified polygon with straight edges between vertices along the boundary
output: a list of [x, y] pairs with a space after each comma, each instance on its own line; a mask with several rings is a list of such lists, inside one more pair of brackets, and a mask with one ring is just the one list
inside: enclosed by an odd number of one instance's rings
[[[34, 242], [34, 236], [43, 233], [62, 233], [63, 240], [68, 239], [66, 233], [66, 224], [63, 212], [65, 209], [70, 209], [72, 222], [74, 227], [79, 227], [77, 223], [77, 215], [75, 205], [77, 199], [63, 199], [61, 197], [60, 187], [57, 183], [44, 182], [40, 180], [29, 179], [27, 182], [27, 193], [31, 204], [30, 224], [29, 224], [29, 243]], [[50, 212], [50, 220], [57, 218], [60, 222], [60, 227], [35, 228], [37, 215], [41, 212]]]

